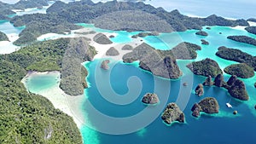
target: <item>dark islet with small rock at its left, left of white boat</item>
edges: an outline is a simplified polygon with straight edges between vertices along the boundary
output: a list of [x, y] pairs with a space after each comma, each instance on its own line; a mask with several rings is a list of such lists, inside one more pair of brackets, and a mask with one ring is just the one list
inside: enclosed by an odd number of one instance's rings
[[196, 118], [200, 116], [200, 112], [218, 113], [218, 101], [214, 97], [206, 97], [199, 103], [195, 103], [191, 108], [192, 115]]

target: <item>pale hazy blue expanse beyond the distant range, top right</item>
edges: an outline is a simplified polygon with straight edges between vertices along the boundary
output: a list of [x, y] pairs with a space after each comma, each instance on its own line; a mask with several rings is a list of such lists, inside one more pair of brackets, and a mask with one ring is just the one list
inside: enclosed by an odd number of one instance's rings
[[[19, 0], [0, 0], [3, 3], [16, 3]], [[69, 1], [69, 0], [62, 0]], [[107, 0], [92, 0], [93, 2], [106, 2]], [[151, 0], [148, 3], [154, 7], [163, 7], [171, 11], [178, 9], [182, 14], [206, 17], [218, 14], [225, 18], [248, 19], [256, 18], [255, 0]]]

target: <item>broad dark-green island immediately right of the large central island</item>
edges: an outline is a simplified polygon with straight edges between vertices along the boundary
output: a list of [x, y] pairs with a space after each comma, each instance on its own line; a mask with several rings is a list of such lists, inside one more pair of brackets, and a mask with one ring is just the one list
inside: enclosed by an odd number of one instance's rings
[[191, 72], [201, 76], [211, 76], [215, 78], [219, 73], [223, 73], [219, 68], [218, 63], [212, 59], [205, 59], [201, 61], [195, 61], [187, 65]]

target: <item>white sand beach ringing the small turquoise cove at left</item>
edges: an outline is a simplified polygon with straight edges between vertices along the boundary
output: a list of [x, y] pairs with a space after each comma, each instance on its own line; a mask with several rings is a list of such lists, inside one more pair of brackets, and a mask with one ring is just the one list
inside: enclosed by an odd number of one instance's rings
[[28, 72], [20, 82], [24, 84], [27, 91], [29, 91], [29, 89], [26, 86], [26, 82], [27, 80], [29, 80], [29, 78], [49, 74], [55, 75], [56, 84], [48, 89], [42, 89], [38, 92], [31, 93], [44, 96], [44, 98], [48, 99], [56, 109], [60, 109], [61, 112], [64, 112], [68, 116], [72, 117], [74, 123], [77, 124], [77, 127], [80, 130], [84, 124], [84, 118], [83, 115], [79, 115], [78, 112], [82, 113], [79, 106], [85, 100], [85, 96], [72, 96], [65, 94], [65, 92], [59, 87], [61, 82], [61, 72]]

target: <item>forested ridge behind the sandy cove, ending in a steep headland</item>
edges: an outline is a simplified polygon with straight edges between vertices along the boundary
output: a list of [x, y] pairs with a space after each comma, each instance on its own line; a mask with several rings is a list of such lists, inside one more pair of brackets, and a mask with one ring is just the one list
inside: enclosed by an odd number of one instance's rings
[[[60, 38], [33, 43], [15, 53], [0, 55], [0, 59], [9, 60], [26, 71], [61, 71], [61, 89], [69, 95], [82, 95], [87, 86], [84, 78], [87, 71], [81, 68], [81, 63], [96, 55], [96, 50], [84, 44], [85, 41], [84, 38]], [[81, 71], [86, 75], [81, 75]]]

